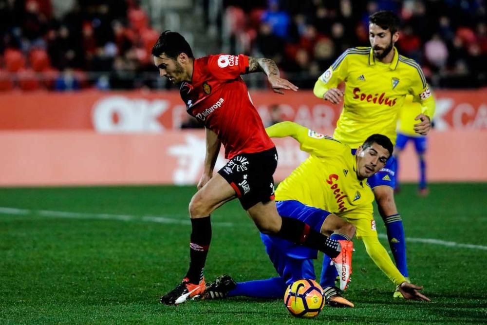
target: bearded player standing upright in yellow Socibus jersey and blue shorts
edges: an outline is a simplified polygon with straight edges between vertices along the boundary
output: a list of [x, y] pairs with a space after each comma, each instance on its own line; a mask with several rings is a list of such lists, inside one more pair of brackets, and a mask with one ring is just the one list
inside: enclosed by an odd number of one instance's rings
[[[434, 99], [419, 65], [399, 55], [394, 47], [399, 39], [398, 28], [399, 19], [393, 12], [379, 11], [370, 16], [371, 47], [346, 50], [315, 84], [315, 96], [334, 104], [343, 98], [343, 111], [333, 137], [354, 150], [376, 133], [395, 143], [397, 116], [406, 95], [412, 95], [421, 105], [414, 131], [426, 135], [431, 128]], [[344, 92], [337, 88], [341, 82], [345, 82]], [[404, 228], [394, 202], [395, 172], [396, 160], [391, 158], [368, 183], [386, 225], [396, 266], [408, 277]], [[402, 296], [396, 291], [394, 297]]]

